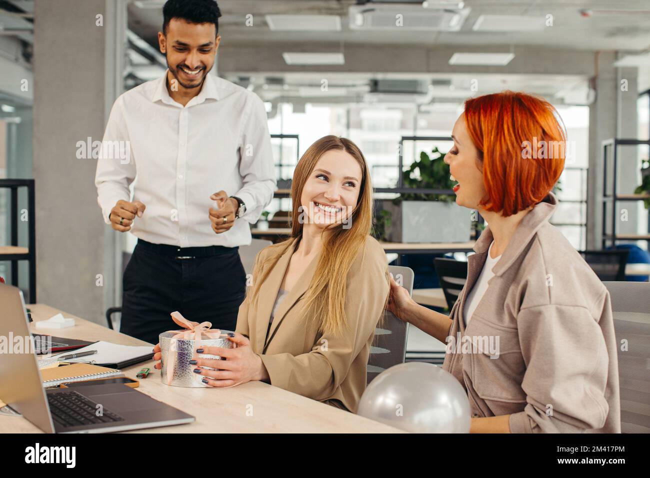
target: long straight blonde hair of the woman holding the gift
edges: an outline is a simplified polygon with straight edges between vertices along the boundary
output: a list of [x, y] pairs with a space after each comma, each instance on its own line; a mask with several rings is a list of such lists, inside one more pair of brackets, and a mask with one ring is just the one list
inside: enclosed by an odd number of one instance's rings
[[[347, 326], [345, 317], [346, 278], [350, 267], [359, 252], [364, 250], [365, 242], [372, 227], [372, 183], [370, 171], [363, 153], [354, 142], [333, 135], [322, 137], [309, 146], [298, 161], [291, 184], [292, 215], [291, 237], [286, 241], [270, 246], [274, 252], [261, 265], [263, 276], [256, 278], [252, 287], [254, 303], [259, 297], [259, 290], [268, 278], [279, 258], [287, 251], [294, 239], [302, 238], [302, 209], [300, 198], [309, 176], [313, 172], [322, 155], [330, 150], [342, 150], [350, 154], [361, 166], [361, 182], [357, 204], [343, 224], [329, 224], [321, 233], [323, 240], [320, 258], [305, 298], [304, 315], [318, 321], [320, 330], [328, 330], [340, 334]], [[327, 235], [322, 235], [328, 232]], [[270, 265], [270, 267], [266, 267]], [[259, 274], [258, 274], [259, 275]]]

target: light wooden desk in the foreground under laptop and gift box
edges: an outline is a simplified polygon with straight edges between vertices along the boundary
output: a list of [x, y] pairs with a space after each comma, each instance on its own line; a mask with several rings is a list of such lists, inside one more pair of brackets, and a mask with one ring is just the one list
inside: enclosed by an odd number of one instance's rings
[[[34, 321], [48, 319], [57, 312], [44, 304], [28, 306]], [[65, 317], [74, 317], [64, 313]], [[76, 324], [52, 335], [84, 340], [107, 340], [122, 345], [149, 345], [141, 340], [74, 317]], [[32, 332], [36, 330], [33, 324]], [[152, 346], [153, 348], [153, 346]], [[142, 367], [151, 368], [149, 377], [140, 380], [137, 390], [164, 401], [196, 417], [194, 423], [133, 431], [135, 433], [399, 433], [388, 425], [344, 412], [330, 405], [287, 392], [263, 382], [248, 382], [233, 388], [182, 388], [162, 384], [153, 360], [123, 369], [135, 378]], [[22, 417], [0, 416], [0, 433], [40, 432]]]

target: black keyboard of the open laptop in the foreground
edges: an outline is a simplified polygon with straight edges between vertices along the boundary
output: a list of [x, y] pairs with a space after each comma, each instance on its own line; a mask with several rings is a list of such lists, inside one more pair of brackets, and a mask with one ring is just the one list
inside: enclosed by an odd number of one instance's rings
[[80, 427], [124, 420], [105, 408], [102, 410], [102, 415], [97, 416], [97, 404], [77, 392], [47, 393], [47, 402], [52, 418], [62, 427]]

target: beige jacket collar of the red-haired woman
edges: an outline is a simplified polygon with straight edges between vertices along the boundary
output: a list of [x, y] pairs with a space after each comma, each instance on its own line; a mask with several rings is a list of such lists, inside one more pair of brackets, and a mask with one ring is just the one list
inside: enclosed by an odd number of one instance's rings
[[[510, 243], [506, 246], [503, 254], [500, 256], [499, 262], [495, 265], [492, 272], [495, 276], [500, 276], [505, 272], [510, 265], [519, 257], [523, 249], [530, 239], [538, 232], [539, 228], [543, 226], [552, 216], [556, 207], [558, 207], [558, 200], [553, 193], [549, 193], [533, 207], [530, 213], [526, 214], [524, 219], [519, 222], [517, 230], [515, 231]], [[489, 226], [481, 233], [480, 237], [474, 244], [474, 251], [476, 254], [484, 254], [489, 249], [494, 236], [492, 235]]]

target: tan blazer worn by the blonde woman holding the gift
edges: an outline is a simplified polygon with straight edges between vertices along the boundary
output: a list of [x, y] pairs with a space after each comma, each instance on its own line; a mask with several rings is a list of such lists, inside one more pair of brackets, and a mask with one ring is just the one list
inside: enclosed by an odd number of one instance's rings
[[[250, 339], [272, 385], [356, 412], [366, 386], [370, 343], [389, 292], [386, 255], [369, 236], [346, 278], [348, 329], [340, 336], [318, 330], [312, 317], [303, 313], [305, 293], [318, 258], [311, 261], [280, 302], [269, 328], [270, 314], [297, 243], [294, 239], [261, 285], [257, 305], [250, 304], [247, 295], [239, 308], [237, 332]], [[262, 264], [267, 257], [268, 248], [257, 254], [253, 284], [263, 276]]]

